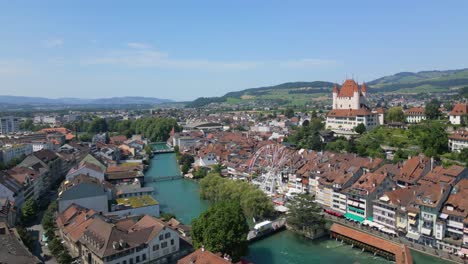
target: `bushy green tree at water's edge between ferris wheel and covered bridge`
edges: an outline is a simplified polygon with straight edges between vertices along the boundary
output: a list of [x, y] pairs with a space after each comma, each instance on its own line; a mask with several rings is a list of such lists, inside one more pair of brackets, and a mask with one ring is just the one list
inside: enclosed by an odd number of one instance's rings
[[288, 225], [296, 232], [310, 236], [324, 228], [322, 209], [308, 194], [296, 195], [289, 202]]

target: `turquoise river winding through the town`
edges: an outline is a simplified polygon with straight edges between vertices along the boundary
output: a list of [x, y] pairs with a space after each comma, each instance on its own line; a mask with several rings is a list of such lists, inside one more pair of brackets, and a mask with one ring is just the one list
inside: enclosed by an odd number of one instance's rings
[[[179, 174], [175, 154], [164, 153], [152, 158], [145, 177]], [[148, 186], [155, 188], [154, 197], [159, 202], [161, 211], [175, 214], [183, 223], [190, 224], [193, 218], [209, 206], [207, 201], [200, 199], [198, 184], [192, 180], [160, 181], [148, 183]], [[247, 259], [254, 263], [271, 264], [392, 263], [335, 240], [310, 241], [289, 231], [280, 232], [250, 245]], [[447, 263], [418, 252], [413, 252], [413, 259], [417, 264]]]

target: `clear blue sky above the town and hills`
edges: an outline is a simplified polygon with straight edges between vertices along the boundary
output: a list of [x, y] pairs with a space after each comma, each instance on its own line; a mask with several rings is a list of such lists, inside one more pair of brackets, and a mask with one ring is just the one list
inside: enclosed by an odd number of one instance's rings
[[468, 67], [468, 1], [3, 1], [0, 94], [192, 100]]

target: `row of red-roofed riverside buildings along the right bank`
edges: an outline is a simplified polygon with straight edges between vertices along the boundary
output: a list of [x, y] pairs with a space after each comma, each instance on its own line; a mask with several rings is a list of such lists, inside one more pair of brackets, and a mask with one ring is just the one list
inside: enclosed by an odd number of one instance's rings
[[296, 172], [326, 212], [387, 233], [468, 255], [468, 170], [423, 155], [403, 163], [309, 152]]

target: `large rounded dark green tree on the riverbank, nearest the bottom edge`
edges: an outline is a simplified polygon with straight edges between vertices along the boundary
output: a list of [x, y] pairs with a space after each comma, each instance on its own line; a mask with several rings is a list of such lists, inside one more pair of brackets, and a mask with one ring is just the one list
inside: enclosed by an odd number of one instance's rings
[[219, 202], [192, 221], [192, 241], [212, 252], [228, 254], [233, 262], [248, 251], [249, 226], [239, 202]]

